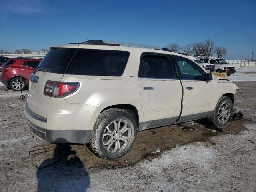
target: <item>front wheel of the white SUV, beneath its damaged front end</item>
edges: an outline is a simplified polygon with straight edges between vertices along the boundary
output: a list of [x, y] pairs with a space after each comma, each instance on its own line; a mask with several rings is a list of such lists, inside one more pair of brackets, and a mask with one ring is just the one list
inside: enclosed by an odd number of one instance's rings
[[233, 102], [227, 96], [221, 96], [208, 118], [208, 122], [217, 128], [224, 128], [228, 126], [233, 116]]

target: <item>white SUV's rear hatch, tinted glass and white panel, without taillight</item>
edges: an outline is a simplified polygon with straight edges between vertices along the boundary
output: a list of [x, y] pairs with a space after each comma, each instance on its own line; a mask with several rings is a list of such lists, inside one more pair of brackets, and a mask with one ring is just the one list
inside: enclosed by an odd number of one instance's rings
[[34, 72], [34, 76], [37, 76], [38, 80], [29, 82], [28, 107], [44, 118], [48, 118], [48, 111], [53, 108], [53, 101], [56, 99], [44, 95], [44, 86], [47, 81], [59, 82], [61, 80], [78, 45], [68, 47], [51, 48], [38, 66], [39, 69], [48, 70]]

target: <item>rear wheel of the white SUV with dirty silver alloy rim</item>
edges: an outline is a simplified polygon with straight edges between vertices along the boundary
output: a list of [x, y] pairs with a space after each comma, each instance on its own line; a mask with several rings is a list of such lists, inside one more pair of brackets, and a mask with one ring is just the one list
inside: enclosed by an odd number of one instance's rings
[[124, 156], [137, 136], [133, 116], [121, 109], [108, 109], [98, 116], [90, 135], [92, 151], [103, 159], [114, 160]]

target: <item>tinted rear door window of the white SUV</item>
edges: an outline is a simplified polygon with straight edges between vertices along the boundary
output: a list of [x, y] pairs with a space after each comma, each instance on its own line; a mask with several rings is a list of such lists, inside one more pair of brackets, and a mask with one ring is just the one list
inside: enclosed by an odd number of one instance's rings
[[168, 56], [146, 54], [141, 59], [138, 77], [176, 78], [176, 75]]

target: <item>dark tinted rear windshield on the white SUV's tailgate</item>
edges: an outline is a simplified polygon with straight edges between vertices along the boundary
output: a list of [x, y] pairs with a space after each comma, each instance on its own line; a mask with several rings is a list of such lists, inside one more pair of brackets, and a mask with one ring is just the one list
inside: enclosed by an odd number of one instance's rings
[[44, 56], [38, 68], [48, 68], [52, 73], [64, 73], [75, 51], [76, 48], [52, 49]]

